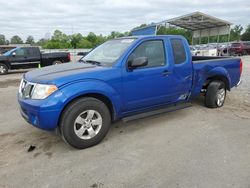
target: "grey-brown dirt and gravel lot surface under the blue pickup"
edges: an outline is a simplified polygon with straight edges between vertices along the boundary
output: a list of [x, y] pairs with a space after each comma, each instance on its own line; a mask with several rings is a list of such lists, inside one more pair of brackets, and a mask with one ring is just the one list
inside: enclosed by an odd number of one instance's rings
[[[250, 56], [225, 106], [191, 108], [111, 127], [76, 150], [28, 125], [16, 94], [22, 74], [0, 77], [0, 187], [250, 187]], [[27, 152], [30, 145], [35, 146]]]

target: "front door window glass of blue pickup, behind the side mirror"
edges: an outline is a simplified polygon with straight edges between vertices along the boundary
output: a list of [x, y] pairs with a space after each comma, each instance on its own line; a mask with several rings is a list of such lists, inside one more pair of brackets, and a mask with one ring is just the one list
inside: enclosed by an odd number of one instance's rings
[[129, 56], [129, 59], [134, 59], [138, 57], [148, 58], [148, 65], [145, 67], [158, 67], [165, 65], [165, 52], [163, 41], [151, 40], [143, 42]]

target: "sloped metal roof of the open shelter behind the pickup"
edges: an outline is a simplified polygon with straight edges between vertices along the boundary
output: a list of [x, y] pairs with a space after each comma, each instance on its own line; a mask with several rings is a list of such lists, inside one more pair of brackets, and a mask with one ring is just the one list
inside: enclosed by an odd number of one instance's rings
[[165, 20], [157, 23], [157, 25], [163, 23], [169, 23], [171, 25], [175, 25], [191, 31], [232, 25], [231, 22], [204, 14], [202, 12], [194, 12], [184, 16]]

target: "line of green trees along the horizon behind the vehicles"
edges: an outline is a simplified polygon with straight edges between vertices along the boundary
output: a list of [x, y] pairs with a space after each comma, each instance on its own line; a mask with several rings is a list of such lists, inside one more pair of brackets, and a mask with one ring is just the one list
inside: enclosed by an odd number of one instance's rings
[[[136, 28], [141, 28], [146, 26], [142, 24]], [[241, 25], [235, 25], [234, 28], [230, 31], [229, 41], [250, 41], [250, 24], [242, 33], [243, 27]], [[36, 46], [42, 46], [44, 49], [66, 49], [66, 48], [93, 48], [99, 44], [105, 42], [106, 40], [130, 36], [131, 32], [117, 32], [112, 31], [108, 36], [96, 35], [94, 32], [90, 32], [87, 36], [83, 36], [81, 33], [67, 35], [60, 30], [55, 30], [50, 39], [42, 38], [38, 41], [35, 41], [32, 35], [29, 35], [25, 41], [18, 35], [11, 37], [10, 41], [5, 38], [4, 35], [0, 34], [0, 45], [8, 44], [30, 44]], [[182, 35], [184, 36], [189, 43], [192, 40], [192, 33], [188, 30], [177, 28], [177, 27], [165, 27], [161, 26], [157, 35]], [[210, 42], [217, 42], [217, 37], [211, 36], [209, 38]], [[219, 42], [227, 42], [228, 36], [222, 35], [219, 37]], [[203, 37], [201, 43], [207, 43], [208, 38]]]

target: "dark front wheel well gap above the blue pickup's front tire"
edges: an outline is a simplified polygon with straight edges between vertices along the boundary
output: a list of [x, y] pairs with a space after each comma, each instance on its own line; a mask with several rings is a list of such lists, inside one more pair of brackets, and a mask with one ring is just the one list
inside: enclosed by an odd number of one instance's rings
[[112, 104], [112, 102], [110, 101], [110, 99], [108, 97], [106, 97], [105, 95], [99, 94], [99, 93], [88, 93], [88, 94], [84, 94], [84, 95], [80, 95], [74, 99], [72, 99], [71, 101], [69, 101], [63, 108], [62, 112], [60, 113], [60, 120], [58, 122], [61, 121], [61, 115], [64, 112], [64, 110], [70, 105], [72, 104], [74, 101], [83, 98], [83, 97], [93, 97], [96, 98], [100, 101], [102, 101], [109, 109], [110, 115], [111, 115], [111, 119], [114, 120], [115, 119], [115, 109], [114, 106]]

